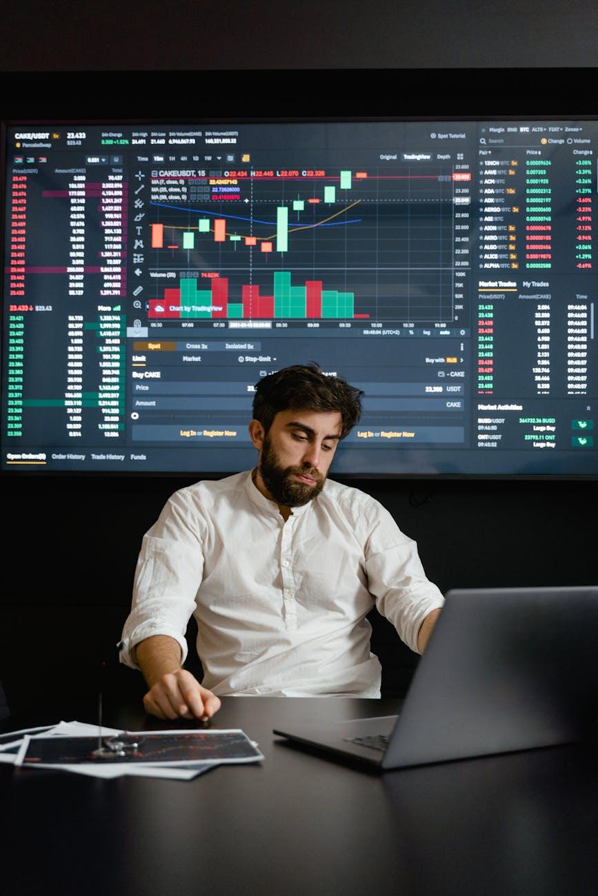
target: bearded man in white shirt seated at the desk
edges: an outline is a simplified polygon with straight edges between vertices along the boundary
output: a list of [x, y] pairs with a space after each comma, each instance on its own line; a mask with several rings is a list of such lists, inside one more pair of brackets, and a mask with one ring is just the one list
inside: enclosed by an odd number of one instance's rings
[[[145, 676], [146, 711], [207, 719], [222, 694], [379, 697], [374, 602], [424, 650], [444, 599], [415, 544], [369, 495], [326, 479], [361, 394], [317, 365], [264, 377], [256, 469], [169, 499], [143, 538], [119, 645]], [[192, 614], [201, 685], [182, 668]]]

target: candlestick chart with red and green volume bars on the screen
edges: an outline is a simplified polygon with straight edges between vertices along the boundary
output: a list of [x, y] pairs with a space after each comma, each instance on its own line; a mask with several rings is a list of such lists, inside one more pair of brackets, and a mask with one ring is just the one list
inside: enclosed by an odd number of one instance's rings
[[454, 208], [439, 165], [154, 177], [148, 316], [446, 320]]

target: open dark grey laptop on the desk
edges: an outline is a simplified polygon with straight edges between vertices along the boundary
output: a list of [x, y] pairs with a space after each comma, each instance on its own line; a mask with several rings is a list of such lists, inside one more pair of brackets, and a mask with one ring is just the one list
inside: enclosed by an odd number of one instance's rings
[[598, 588], [452, 590], [398, 716], [274, 734], [384, 769], [566, 744], [598, 719]]

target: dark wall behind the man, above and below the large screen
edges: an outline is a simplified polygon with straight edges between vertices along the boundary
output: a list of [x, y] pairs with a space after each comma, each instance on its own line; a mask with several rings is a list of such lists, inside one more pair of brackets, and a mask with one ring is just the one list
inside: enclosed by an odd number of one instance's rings
[[[285, 113], [295, 108], [304, 116], [355, 113], [356, 101], [361, 115], [433, 108], [505, 114], [514, 98], [523, 113], [588, 114], [595, 112], [595, 103], [588, 108], [595, 73], [576, 77], [562, 67], [595, 65], [597, 35], [598, 7], [585, 0], [304, 0], [292, 6], [105, 0], [97, 9], [74, 0], [31, 0], [3, 11], [2, 115], [158, 116], [172, 98], [173, 116], [218, 114], [223, 100], [230, 115], [238, 109], [277, 114], [281, 101]], [[422, 73], [426, 67], [483, 71], [451, 81]], [[264, 68], [403, 71], [218, 71]], [[39, 74], [56, 70], [67, 74], [54, 80]], [[186, 77], [181, 70], [203, 71]], [[168, 71], [179, 74], [162, 77]], [[170, 492], [189, 481], [4, 479], [0, 678], [13, 707], [48, 692], [88, 693], [104, 659], [108, 687], [141, 689], [138, 676], [117, 669], [114, 644], [143, 531]], [[443, 590], [595, 582], [594, 484], [351, 484], [386, 504], [418, 540], [429, 577]], [[386, 690], [401, 690], [413, 658], [384, 620], [375, 620], [374, 648]]]

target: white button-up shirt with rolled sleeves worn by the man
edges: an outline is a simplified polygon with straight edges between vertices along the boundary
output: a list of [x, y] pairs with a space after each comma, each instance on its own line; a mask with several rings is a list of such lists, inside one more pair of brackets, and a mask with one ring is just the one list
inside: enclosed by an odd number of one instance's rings
[[144, 536], [120, 656], [136, 668], [135, 644], [166, 634], [184, 661], [193, 614], [214, 694], [379, 697], [374, 602], [412, 650], [444, 603], [381, 504], [328, 479], [284, 521], [239, 473], [176, 492]]

